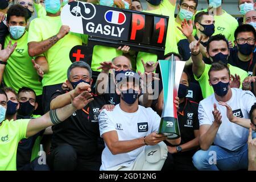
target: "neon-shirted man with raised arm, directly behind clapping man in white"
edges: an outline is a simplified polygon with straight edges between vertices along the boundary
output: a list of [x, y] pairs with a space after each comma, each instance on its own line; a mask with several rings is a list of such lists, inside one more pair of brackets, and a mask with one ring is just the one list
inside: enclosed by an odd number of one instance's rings
[[[202, 38], [202, 37], [201, 37]], [[210, 69], [210, 64], [205, 64], [202, 55], [200, 52], [200, 42], [195, 40], [189, 44], [191, 49], [192, 57], [192, 71], [195, 77], [201, 86], [202, 94], [204, 98], [207, 98], [214, 93], [213, 87], [209, 86], [208, 80], [208, 71]], [[207, 43], [207, 57], [211, 60], [212, 63], [221, 61], [224, 64], [228, 64], [229, 57], [229, 43], [226, 40], [224, 35], [218, 34], [211, 36]], [[228, 64], [230, 73], [232, 74], [232, 84], [230, 86], [236, 88], [242, 88], [242, 82], [248, 76], [246, 71], [238, 67], [234, 67], [231, 64]], [[240, 81], [241, 80], [241, 81]]]

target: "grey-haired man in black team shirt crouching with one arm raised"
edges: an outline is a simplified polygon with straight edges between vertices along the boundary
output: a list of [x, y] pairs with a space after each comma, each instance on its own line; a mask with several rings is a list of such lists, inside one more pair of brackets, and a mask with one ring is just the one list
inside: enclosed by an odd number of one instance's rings
[[[92, 69], [84, 61], [72, 63], [67, 71], [67, 90], [57, 90], [52, 95], [51, 109], [57, 109], [71, 102], [85, 88], [91, 88]], [[100, 141], [98, 116], [105, 105], [104, 97], [93, 94], [93, 101], [71, 117], [64, 124], [52, 127], [51, 150], [47, 162], [52, 170], [98, 171], [101, 166], [103, 142]], [[86, 147], [85, 147], [86, 146]]]

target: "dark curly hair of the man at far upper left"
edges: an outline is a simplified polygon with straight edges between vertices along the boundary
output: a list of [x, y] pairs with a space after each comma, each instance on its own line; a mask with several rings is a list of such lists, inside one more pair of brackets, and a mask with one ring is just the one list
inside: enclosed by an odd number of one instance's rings
[[7, 17], [6, 17], [7, 22], [9, 22], [11, 16], [24, 17], [26, 22], [28, 19], [27, 10], [21, 5], [13, 5], [9, 8], [9, 10], [7, 11]]

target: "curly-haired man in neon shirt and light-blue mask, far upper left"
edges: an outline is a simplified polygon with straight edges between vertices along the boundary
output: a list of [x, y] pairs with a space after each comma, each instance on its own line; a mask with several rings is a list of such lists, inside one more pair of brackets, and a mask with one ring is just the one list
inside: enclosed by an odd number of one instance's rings
[[5, 47], [9, 42], [17, 43], [14, 53], [9, 59], [1, 63], [4, 67], [3, 82], [7, 87], [11, 87], [18, 92], [22, 86], [29, 87], [36, 92], [36, 99], [39, 103], [37, 114], [42, 112], [42, 83], [39, 81], [39, 76], [35, 69], [32, 67], [31, 60], [33, 57], [28, 55], [28, 32], [26, 31], [27, 25], [27, 10], [20, 5], [13, 5], [7, 12], [7, 27], [10, 34], [5, 38]]

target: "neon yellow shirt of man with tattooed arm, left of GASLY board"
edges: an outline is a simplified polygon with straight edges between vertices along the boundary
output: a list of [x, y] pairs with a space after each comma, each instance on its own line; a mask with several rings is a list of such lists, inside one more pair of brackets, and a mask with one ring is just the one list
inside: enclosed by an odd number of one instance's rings
[[[35, 18], [30, 23], [28, 31], [28, 43], [41, 42], [58, 34], [61, 27], [60, 16], [42, 16]], [[44, 56], [48, 61], [49, 72], [44, 74], [43, 86], [63, 83], [67, 79], [67, 70], [71, 61], [69, 52], [74, 46], [86, 43], [88, 36], [69, 32], [64, 38], [57, 41]]]

